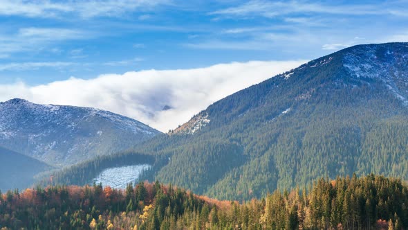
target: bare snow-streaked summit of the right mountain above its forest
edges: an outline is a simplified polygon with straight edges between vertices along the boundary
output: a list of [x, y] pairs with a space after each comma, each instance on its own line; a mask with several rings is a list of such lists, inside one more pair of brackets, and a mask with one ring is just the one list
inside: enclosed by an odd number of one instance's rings
[[310, 98], [316, 89], [330, 94], [335, 89], [373, 89], [382, 85], [384, 92], [390, 92], [403, 105], [408, 105], [407, 63], [407, 42], [361, 44], [319, 57], [267, 81], [280, 87], [293, 87], [302, 82], [299, 90], [303, 92], [295, 98]]

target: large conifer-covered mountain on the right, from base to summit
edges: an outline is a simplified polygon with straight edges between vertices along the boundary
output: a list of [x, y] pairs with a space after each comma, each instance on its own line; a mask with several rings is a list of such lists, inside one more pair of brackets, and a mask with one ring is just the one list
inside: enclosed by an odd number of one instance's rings
[[147, 179], [227, 200], [353, 173], [408, 179], [407, 98], [407, 43], [353, 46], [223, 98], [129, 153], [156, 157]]

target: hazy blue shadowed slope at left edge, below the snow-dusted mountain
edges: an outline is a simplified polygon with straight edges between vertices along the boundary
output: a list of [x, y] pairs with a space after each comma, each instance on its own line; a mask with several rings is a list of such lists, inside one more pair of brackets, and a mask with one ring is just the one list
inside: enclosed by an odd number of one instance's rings
[[28, 188], [35, 182], [35, 175], [52, 169], [46, 163], [0, 147], [0, 190]]

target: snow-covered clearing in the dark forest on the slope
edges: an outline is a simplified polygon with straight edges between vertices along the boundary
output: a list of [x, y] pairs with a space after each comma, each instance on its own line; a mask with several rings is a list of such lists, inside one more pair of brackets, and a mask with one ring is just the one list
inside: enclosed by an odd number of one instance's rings
[[126, 188], [130, 182], [135, 183], [142, 170], [147, 170], [150, 167], [149, 164], [139, 164], [136, 166], [107, 168], [93, 179], [93, 182], [96, 184], [102, 183], [102, 186], [111, 186], [111, 188]]

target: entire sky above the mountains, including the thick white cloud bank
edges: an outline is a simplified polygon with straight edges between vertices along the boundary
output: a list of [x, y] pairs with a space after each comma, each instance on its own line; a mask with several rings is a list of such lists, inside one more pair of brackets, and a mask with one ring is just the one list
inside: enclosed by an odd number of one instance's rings
[[408, 0], [0, 0], [0, 21], [0, 100], [98, 107], [163, 132], [308, 60], [408, 42]]

